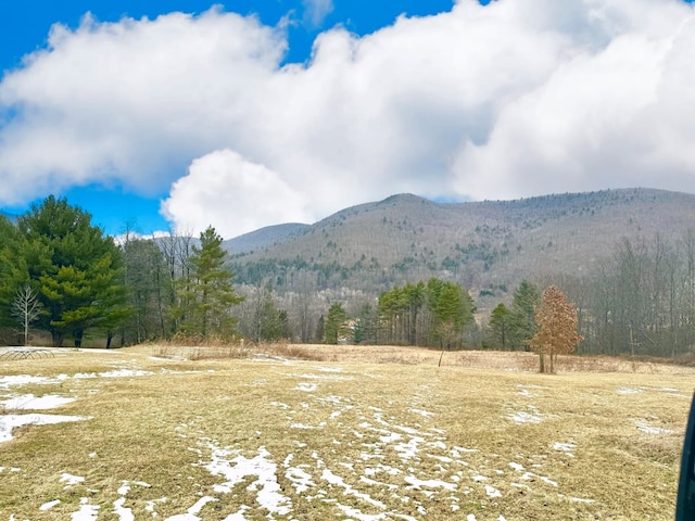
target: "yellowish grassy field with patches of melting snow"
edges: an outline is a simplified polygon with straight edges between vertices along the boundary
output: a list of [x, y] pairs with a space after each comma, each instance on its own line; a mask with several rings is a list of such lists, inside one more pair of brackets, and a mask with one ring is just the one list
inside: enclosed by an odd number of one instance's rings
[[402, 347], [230, 355], [0, 359], [0, 520], [673, 518], [693, 369], [570, 357], [541, 376], [532, 355], [477, 352], [438, 368], [439, 353]]

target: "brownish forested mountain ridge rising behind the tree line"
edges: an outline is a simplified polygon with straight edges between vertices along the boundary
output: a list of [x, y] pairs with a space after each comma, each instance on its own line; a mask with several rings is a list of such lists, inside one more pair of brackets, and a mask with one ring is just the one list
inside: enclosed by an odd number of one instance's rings
[[[506, 293], [522, 278], [589, 274], [623, 238], [650, 241], [659, 234], [672, 242], [691, 228], [695, 195], [662, 190], [468, 203], [399, 194], [311, 226], [258, 230], [248, 234], [255, 237], [253, 247], [231, 253], [239, 282], [269, 279], [278, 291], [308, 272], [319, 289], [378, 293], [439, 277], [492, 295]], [[244, 244], [244, 237], [228, 244]]]

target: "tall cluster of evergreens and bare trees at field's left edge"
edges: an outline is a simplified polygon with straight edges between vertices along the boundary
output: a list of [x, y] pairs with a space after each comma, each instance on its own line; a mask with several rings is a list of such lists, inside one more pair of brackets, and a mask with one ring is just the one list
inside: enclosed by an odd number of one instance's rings
[[[211, 227], [193, 242], [126, 233], [116, 244], [91, 216], [47, 198], [17, 218], [0, 218], [0, 327], [5, 343], [30, 331], [55, 346], [86, 338], [111, 347], [182, 334], [231, 338], [241, 302]], [[21, 326], [20, 328], [17, 326]], [[18, 339], [17, 339], [18, 336]]]

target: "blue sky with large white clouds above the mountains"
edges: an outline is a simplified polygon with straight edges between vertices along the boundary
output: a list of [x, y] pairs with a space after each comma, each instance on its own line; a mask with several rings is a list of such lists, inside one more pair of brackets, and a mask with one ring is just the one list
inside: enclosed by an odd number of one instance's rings
[[0, 0], [0, 208], [230, 239], [394, 193], [695, 193], [684, 0]]

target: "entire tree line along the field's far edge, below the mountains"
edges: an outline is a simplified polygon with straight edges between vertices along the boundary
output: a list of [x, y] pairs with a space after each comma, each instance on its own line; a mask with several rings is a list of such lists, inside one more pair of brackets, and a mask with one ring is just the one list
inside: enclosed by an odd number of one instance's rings
[[212, 227], [197, 239], [126, 230], [116, 243], [89, 214], [49, 196], [16, 223], [0, 217], [0, 341], [34, 332], [54, 345], [180, 335], [530, 350], [542, 289], [555, 285], [577, 309], [581, 353], [678, 356], [695, 343], [695, 232], [671, 243], [626, 239], [581, 276], [534, 274], [490, 313], [455, 280], [374, 295], [295, 269], [277, 291], [270, 275], [233, 284], [230, 266]]

